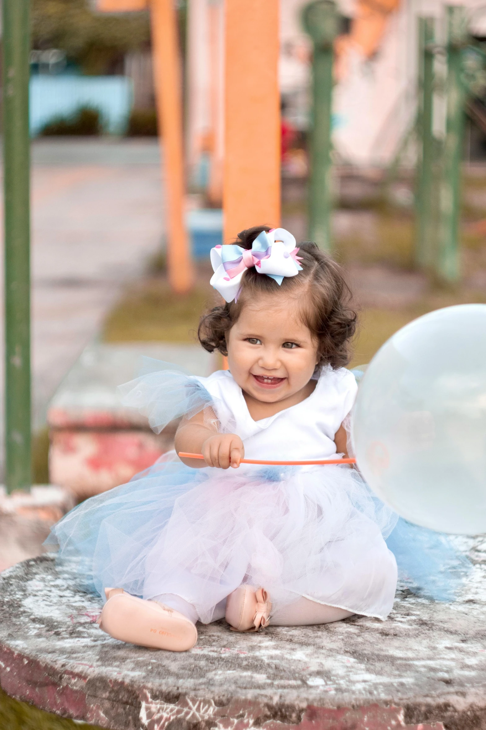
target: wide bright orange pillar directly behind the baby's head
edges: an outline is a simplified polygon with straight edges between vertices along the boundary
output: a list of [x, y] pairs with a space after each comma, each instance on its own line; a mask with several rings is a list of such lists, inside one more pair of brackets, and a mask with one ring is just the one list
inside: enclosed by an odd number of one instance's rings
[[279, 0], [226, 0], [224, 242], [281, 215]]

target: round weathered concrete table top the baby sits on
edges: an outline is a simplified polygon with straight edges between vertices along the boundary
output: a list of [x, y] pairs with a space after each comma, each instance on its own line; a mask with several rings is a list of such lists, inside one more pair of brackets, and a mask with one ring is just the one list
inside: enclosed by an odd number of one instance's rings
[[401, 591], [384, 623], [249, 635], [215, 623], [183, 654], [106, 636], [76, 564], [35, 558], [0, 577], [1, 687], [115, 730], [482, 730], [486, 539], [463, 546], [475, 568], [455, 604]]

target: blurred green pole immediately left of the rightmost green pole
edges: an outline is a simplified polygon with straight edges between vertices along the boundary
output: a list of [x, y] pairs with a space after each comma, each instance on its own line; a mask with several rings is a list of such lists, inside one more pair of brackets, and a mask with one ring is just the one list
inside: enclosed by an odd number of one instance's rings
[[434, 263], [436, 225], [434, 206], [434, 18], [419, 18], [419, 130], [421, 142], [417, 191], [417, 243], [415, 262], [421, 269]]

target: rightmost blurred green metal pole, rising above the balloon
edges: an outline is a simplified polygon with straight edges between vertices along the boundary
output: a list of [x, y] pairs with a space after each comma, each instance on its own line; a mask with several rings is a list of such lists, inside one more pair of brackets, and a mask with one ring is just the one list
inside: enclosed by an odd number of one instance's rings
[[454, 283], [459, 271], [460, 163], [463, 153], [464, 86], [461, 79], [462, 49], [466, 44], [466, 13], [460, 6], [447, 7], [447, 122], [440, 186], [439, 250], [436, 274]]

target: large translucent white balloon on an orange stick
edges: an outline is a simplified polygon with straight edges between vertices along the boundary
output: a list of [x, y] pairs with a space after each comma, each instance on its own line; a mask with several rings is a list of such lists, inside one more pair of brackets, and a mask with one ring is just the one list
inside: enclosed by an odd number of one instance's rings
[[430, 312], [385, 342], [359, 387], [353, 442], [401, 517], [486, 532], [486, 304]]

